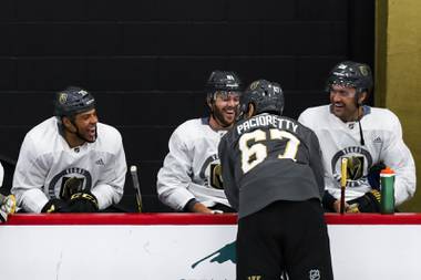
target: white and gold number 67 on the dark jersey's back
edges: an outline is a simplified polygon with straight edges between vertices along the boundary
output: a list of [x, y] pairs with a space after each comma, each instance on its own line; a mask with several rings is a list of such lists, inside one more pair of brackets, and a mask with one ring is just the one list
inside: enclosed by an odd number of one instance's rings
[[[266, 132], [257, 129], [250, 133], [245, 133], [239, 138], [239, 149], [242, 151], [242, 169], [243, 173], [248, 173], [256, 165], [260, 164], [267, 157], [267, 147], [263, 143], [267, 139]], [[278, 155], [279, 159], [289, 158], [296, 160], [296, 155], [300, 141], [291, 133], [279, 131], [276, 128], [269, 129], [269, 139], [287, 139], [284, 154]], [[255, 144], [248, 145], [253, 141]]]

